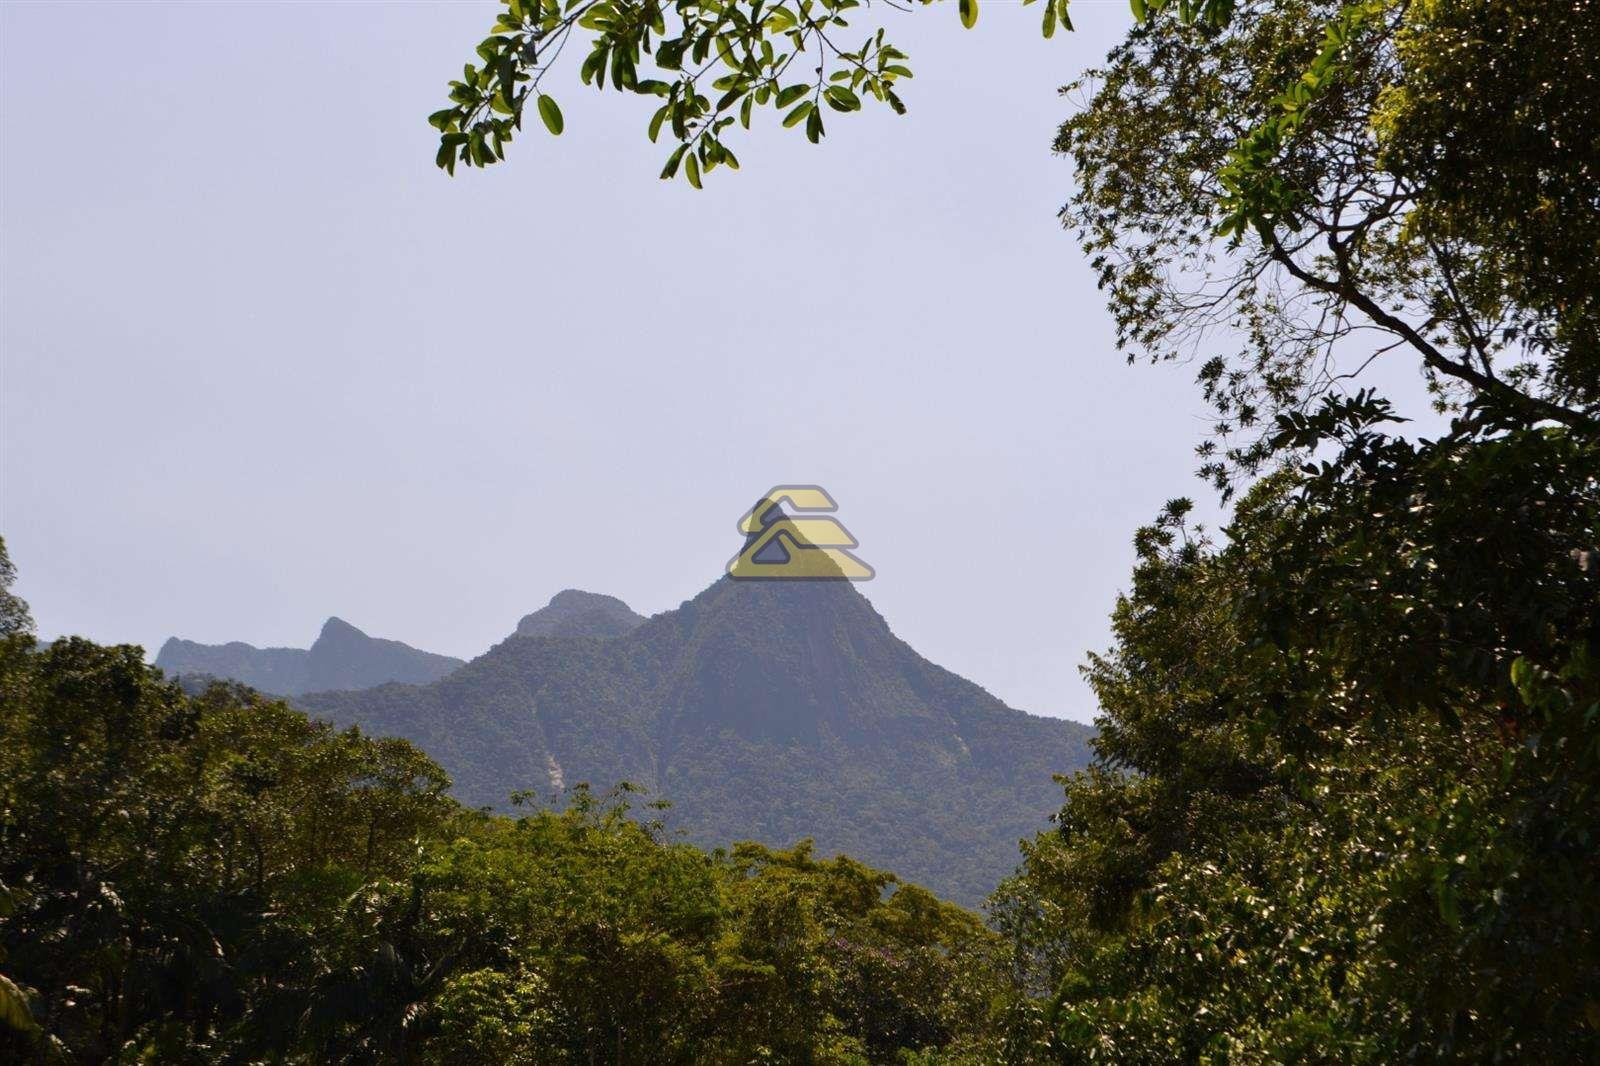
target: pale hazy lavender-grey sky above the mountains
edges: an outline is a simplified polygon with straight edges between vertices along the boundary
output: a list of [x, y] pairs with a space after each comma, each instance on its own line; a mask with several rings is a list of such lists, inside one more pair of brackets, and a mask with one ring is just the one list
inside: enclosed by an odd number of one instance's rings
[[1210, 493], [1192, 368], [1123, 363], [1054, 218], [1056, 90], [1130, 19], [1072, 10], [888, 11], [907, 117], [768, 117], [694, 192], [576, 66], [563, 138], [437, 171], [494, 5], [5, 0], [0, 531], [42, 634], [470, 656], [568, 586], [677, 607], [816, 482], [899, 635], [1091, 717], [1134, 527]]

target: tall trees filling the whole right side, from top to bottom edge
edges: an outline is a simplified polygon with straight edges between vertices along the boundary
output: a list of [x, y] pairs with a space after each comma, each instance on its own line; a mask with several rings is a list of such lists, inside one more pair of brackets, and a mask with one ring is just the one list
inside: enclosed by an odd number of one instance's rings
[[[995, 900], [1040, 1056], [1600, 1056], [1592, 21], [1267, 0], [1077, 85], [1120, 339], [1270, 475], [1136, 538], [1099, 765]], [[1347, 392], [1390, 352], [1437, 440]]]

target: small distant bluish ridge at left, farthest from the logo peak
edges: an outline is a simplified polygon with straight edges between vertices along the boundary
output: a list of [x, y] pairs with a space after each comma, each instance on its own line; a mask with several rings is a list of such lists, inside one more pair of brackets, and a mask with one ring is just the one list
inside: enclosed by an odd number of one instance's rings
[[462, 664], [448, 655], [381, 640], [341, 618], [322, 626], [310, 648], [256, 648], [248, 643], [195, 643], [171, 637], [155, 664], [173, 677], [237, 680], [280, 696], [325, 688], [368, 688], [386, 682], [427, 683]]

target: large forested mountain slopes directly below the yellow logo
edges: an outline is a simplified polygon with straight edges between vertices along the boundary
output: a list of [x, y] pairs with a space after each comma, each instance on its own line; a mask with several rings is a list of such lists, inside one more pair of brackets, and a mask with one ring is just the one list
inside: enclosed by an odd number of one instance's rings
[[1093, 730], [930, 663], [845, 581], [722, 578], [610, 637], [530, 619], [430, 685], [296, 703], [418, 743], [472, 805], [630, 781], [696, 844], [810, 836], [966, 904], [1045, 828], [1051, 775], [1090, 757]]

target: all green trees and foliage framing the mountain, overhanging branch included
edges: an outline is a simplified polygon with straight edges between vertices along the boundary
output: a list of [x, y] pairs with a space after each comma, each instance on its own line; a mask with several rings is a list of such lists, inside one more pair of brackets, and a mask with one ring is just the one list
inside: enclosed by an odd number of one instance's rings
[[[742, 6], [675, 13], [694, 45]], [[1136, 533], [1098, 760], [987, 920], [674, 842], [629, 792], [462, 810], [403, 741], [38, 650], [6, 599], [0, 1055], [1600, 1061], [1600, 8], [1134, 8], [1059, 133], [1064, 219], [1130, 359], [1198, 368], [1232, 512]], [[646, 93], [656, 19], [571, 11], [507, 5], [435, 117], [451, 163], [499, 155], [462, 123], [490, 91], [512, 122], [531, 67], [490, 61], [547, 54], [518, 27], [592, 30]]]

